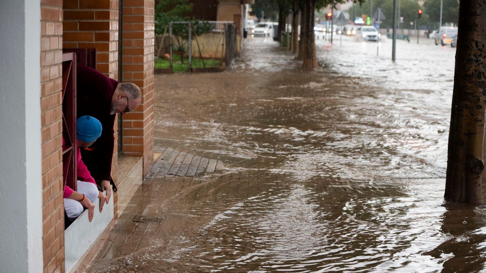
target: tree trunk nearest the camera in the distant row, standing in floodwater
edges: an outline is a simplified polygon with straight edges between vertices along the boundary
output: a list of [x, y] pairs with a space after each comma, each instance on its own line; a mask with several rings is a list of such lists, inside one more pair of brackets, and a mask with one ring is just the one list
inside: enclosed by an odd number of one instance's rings
[[313, 69], [317, 68], [317, 56], [315, 51], [315, 35], [314, 35], [314, 10], [315, 10], [316, 0], [306, 1], [306, 13], [307, 13], [307, 23], [306, 23], [306, 35], [305, 35], [305, 45], [304, 45], [304, 63], [302, 68]]

